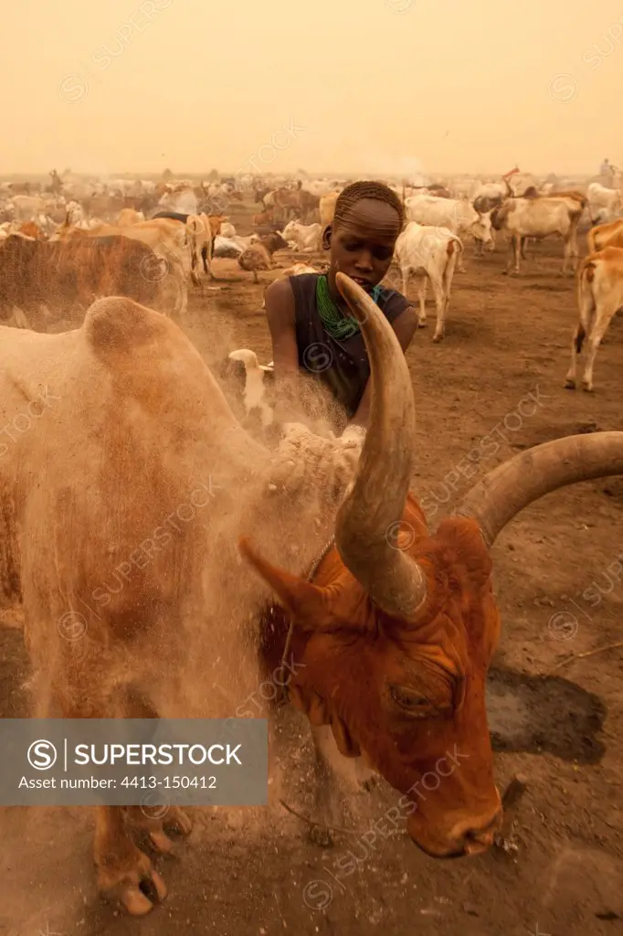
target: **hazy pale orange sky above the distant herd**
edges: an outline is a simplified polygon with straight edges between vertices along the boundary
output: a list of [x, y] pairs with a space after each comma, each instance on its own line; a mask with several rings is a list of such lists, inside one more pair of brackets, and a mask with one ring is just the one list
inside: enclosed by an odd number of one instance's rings
[[0, 173], [623, 166], [623, 0], [20, 0], [0, 54]]

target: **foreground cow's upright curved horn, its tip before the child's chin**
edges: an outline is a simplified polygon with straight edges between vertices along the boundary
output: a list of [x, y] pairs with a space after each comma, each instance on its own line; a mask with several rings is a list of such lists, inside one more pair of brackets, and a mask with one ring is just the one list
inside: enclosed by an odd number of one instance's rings
[[361, 326], [372, 382], [369, 430], [353, 490], [336, 519], [336, 546], [378, 607], [410, 619], [426, 600], [425, 579], [417, 563], [390, 541], [402, 518], [412, 473], [411, 378], [398, 339], [376, 303], [343, 273], [336, 281]]

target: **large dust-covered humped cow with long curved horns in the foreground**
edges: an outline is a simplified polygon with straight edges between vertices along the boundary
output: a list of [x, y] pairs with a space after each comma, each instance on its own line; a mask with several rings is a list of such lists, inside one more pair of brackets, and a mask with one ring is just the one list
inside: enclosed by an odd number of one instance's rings
[[[0, 460], [2, 603], [22, 614], [39, 717], [226, 718], [259, 699], [277, 660], [334, 775], [352, 778], [361, 755], [429, 856], [482, 854], [502, 819], [485, 707], [500, 636], [489, 550], [543, 495], [621, 474], [623, 433], [521, 452], [429, 532], [410, 491], [406, 360], [371, 298], [340, 273], [338, 287], [369, 352], [360, 454], [297, 425], [262, 446], [181, 329], [131, 300], [99, 300], [61, 335], [1, 329], [7, 424], [46, 394], [36, 430]], [[163, 524], [181, 506], [173, 534]], [[68, 616], [79, 641], [59, 626]], [[268, 711], [258, 702], [251, 717]], [[166, 852], [167, 826], [188, 832], [188, 818], [94, 812], [100, 891], [148, 913], [167, 887], [133, 830]]]

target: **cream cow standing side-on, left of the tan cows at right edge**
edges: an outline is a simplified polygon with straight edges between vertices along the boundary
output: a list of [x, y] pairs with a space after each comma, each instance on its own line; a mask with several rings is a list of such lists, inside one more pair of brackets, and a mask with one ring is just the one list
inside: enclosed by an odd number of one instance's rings
[[[578, 256], [577, 228], [582, 217], [580, 203], [570, 196], [543, 196], [538, 198], [508, 198], [500, 208], [491, 213], [496, 230], [507, 230], [511, 235], [511, 250], [514, 251], [514, 273], [519, 272], [519, 256], [523, 241], [556, 235], [564, 241], [562, 273], [567, 271], [570, 259]], [[510, 271], [512, 260], [505, 272]]]

